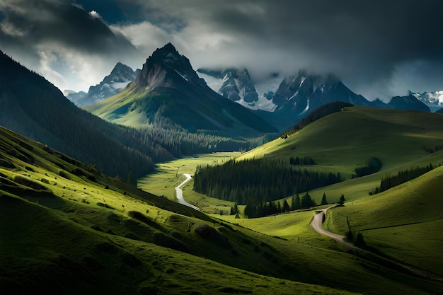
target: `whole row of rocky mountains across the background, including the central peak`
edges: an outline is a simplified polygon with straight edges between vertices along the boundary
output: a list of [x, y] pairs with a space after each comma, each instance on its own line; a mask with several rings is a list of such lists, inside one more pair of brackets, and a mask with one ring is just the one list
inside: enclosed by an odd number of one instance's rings
[[[133, 85], [130, 85], [131, 81]], [[125, 87], [127, 89], [123, 89]], [[119, 95], [120, 91], [123, 91], [122, 95]], [[227, 104], [215, 92], [250, 109], [255, 115]], [[105, 100], [115, 95], [117, 97]], [[243, 129], [240, 134], [251, 128], [259, 132], [275, 132], [267, 122], [282, 132], [312, 110], [333, 101], [424, 112], [430, 112], [431, 108], [435, 111], [441, 104], [438, 93], [410, 93], [393, 97], [389, 103], [379, 99], [370, 101], [351, 91], [333, 74], [321, 76], [308, 71], [285, 77], [274, 73], [267, 81], [255, 85], [244, 68], [194, 71], [189, 59], [179, 54], [171, 43], [146, 59], [142, 70], [132, 71], [129, 66], [118, 63], [110, 75], [98, 85], [91, 86], [88, 93], [69, 93], [67, 98], [106, 120], [123, 125], [162, 122], [163, 125], [184, 127], [190, 132]], [[102, 100], [105, 101], [101, 103]], [[222, 101], [223, 105], [220, 105]], [[259, 121], [257, 115], [264, 121]]]

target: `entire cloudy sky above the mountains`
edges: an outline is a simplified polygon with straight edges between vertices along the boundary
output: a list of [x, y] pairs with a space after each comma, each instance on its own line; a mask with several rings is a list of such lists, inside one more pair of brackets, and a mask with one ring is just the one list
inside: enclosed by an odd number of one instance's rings
[[333, 73], [389, 100], [443, 90], [442, 13], [441, 0], [0, 0], [0, 50], [62, 91], [172, 42], [194, 69]]

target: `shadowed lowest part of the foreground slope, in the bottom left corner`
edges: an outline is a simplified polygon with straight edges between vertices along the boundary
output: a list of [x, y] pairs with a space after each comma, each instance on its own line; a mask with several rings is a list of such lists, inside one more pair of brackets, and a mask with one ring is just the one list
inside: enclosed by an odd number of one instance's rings
[[100, 233], [17, 197], [0, 204], [5, 294], [351, 294]]

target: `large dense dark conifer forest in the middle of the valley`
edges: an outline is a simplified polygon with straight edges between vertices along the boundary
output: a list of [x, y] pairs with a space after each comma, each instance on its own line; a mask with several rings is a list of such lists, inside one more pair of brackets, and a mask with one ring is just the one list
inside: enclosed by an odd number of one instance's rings
[[221, 165], [197, 166], [193, 189], [238, 204], [260, 204], [339, 181], [340, 173], [311, 171], [287, 160], [230, 160]]

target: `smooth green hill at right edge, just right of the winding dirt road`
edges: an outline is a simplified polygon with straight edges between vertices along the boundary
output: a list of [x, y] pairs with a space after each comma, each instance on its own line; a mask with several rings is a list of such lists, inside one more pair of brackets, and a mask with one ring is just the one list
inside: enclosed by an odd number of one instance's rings
[[328, 212], [326, 226], [345, 234], [347, 220], [367, 245], [398, 261], [443, 274], [443, 167], [386, 192]]

